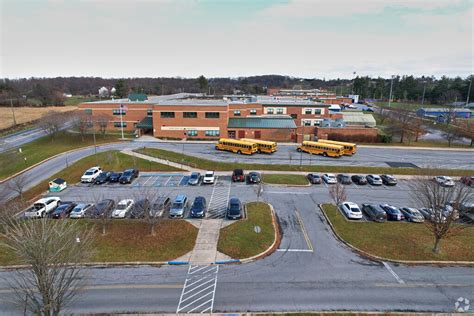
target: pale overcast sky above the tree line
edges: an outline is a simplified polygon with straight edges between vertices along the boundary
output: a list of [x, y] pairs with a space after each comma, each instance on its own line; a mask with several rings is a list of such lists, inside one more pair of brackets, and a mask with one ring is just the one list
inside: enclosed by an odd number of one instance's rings
[[0, 18], [0, 78], [474, 73], [473, 0], [0, 0]]

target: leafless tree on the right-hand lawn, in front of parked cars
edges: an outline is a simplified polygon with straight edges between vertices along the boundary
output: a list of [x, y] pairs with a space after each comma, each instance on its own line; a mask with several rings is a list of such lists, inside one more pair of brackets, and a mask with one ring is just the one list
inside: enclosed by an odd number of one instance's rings
[[439, 252], [442, 239], [459, 234], [465, 225], [456, 224], [459, 206], [472, 199], [472, 190], [456, 182], [453, 187], [439, 185], [431, 177], [420, 177], [410, 184], [413, 201], [430, 210], [425, 223], [433, 235], [433, 252]]

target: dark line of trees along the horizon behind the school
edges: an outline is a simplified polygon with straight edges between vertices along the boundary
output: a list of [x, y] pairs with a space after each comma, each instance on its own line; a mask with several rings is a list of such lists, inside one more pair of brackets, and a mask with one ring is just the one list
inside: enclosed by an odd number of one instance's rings
[[22, 106], [34, 99], [38, 105], [63, 105], [64, 94], [98, 96], [99, 89], [115, 88], [117, 97], [126, 97], [131, 92], [148, 95], [173, 94], [179, 92], [209, 93], [224, 95], [233, 93], [266, 94], [268, 88], [283, 89], [328, 89], [338, 95], [358, 94], [362, 99], [387, 100], [392, 98], [404, 102], [446, 104], [474, 98], [474, 89], [469, 89], [472, 75], [467, 78], [443, 76], [393, 78], [356, 77], [354, 79], [304, 79], [280, 75], [251, 76], [239, 78], [122, 78], [100, 77], [56, 77], [3, 79], [0, 81], [0, 105]]

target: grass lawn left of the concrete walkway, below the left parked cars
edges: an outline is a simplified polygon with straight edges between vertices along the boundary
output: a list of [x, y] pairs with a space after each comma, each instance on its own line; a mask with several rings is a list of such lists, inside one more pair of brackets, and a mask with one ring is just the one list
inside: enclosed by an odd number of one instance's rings
[[[139, 220], [112, 220], [106, 235], [100, 222], [81, 220], [95, 231], [92, 262], [169, 261], [194, 247], [198, 229], [186, 221], [163, 220], [152, 236], [148, 225]], [[0, 265], [15, 264], [15, 256], [0, 251]]]

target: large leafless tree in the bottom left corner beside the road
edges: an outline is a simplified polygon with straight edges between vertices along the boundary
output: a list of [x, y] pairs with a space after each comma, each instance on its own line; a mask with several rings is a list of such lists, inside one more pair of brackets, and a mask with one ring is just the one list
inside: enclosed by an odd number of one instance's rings
[[12, 220], [0, 243], [28, 268], [8, 277], [13, 303], [36, 315], [59, 315], [84, 284], [81, 264], [91, 255], [92, 230], [78, 222]]

